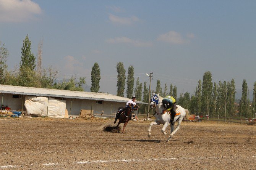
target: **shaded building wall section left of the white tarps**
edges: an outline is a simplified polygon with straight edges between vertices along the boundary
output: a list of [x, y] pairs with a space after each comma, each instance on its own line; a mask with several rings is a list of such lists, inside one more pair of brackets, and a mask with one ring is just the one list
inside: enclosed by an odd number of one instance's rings
[[1, 93], [1, 100], [0, 100], [0, 104], [2, 106], [2, 101], [3, 101], [3, 106], [8, 106], [11, 108], [11, 110], [19, 110], [22, 109], [22, 103], [23, 103], [23, 109], [25, 109], [24, 106], [24, 96], [22, 96], [21, 99], [19, 98], [13, 98], [13, 94], [7, 94], [7, 93]]

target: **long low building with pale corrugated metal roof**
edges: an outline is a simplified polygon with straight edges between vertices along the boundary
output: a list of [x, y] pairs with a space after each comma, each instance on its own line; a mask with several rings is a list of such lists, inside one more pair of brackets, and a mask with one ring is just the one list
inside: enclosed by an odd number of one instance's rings
[[[81, 109], [91, 110], [93, 114], [113, 114], [119, 107], [125, 107], [128, 98], [111, 95], [108, 93], [93, 93], [86, 91], [56, 90], [48, 88], [19, 87], [0, 85], [0, 93], [4, 106], [8, 105], [11, 110], [25, 110], [26, 101], [31, 98], [46, 97], [64, 101], [65, 109], [69, 116], [79, 116]], [[49, 101], [46, 101], [47, 113]], [[147, 104], [136, 101], [137, 104]], [[1, 105], [2, 106], [2, 105]], [[26, 107], [25, 107], [26, 106]]]

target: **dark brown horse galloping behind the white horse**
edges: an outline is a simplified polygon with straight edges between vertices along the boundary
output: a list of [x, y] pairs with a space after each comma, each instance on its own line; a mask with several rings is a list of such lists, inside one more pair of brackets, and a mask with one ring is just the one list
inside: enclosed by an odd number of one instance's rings
[[135, 105], [134, 107], [132, 107], [131, 105], [129, 105], [125, 111], [123, 111], [120, 116], [118, 117], [119, 122], [117, 123], [117, 128], [120, 125], [120, 123], [125, 123], [123, 125], [123, 132], [125, 132], [125, 127], [127, 125], [127, 123], [131, 120], [131, 114], [133, 113], [133, 111], [138, 110], [139, 106]]

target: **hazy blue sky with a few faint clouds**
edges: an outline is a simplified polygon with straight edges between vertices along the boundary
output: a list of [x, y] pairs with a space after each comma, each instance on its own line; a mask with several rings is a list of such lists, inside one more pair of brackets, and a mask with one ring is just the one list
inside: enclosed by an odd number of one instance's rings
[[[235, 80], [237, 98], [246, 80], [250, 98], [256, 81], [256, 1], [254, 0], [0, 0], [0, 41], [10, 55], [8, 70], [21, 61], [26, 35], [42, 66], [58, 70], [58, 79], [86, 77], [100, 66], [100, 90], [117, 94], [116, 64], [147, 82], [153, 73], [178, 96], [194, 94], [211, 71], [212, 82]], [[89, 90], [89, 88], [87, 88]]]

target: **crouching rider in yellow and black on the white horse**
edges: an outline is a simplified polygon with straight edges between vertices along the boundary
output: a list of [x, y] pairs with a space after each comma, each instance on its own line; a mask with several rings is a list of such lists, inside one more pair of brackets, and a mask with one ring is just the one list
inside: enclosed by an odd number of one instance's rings
[[174, 117], [176, 114], [176, 101], [172, 96], [166, 96], [163, 98], [162, 103], [164, 104], [164, 107], [167, 109], [167, 111], [171, 112], [171, 124], [174, 125]]

